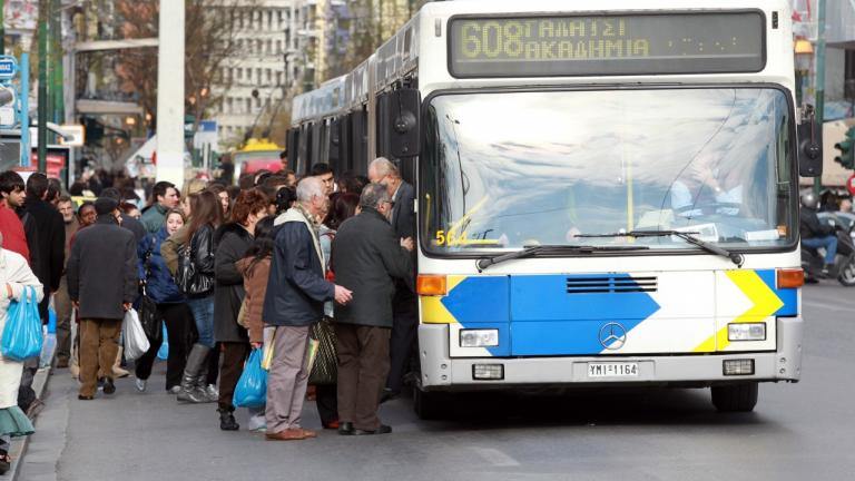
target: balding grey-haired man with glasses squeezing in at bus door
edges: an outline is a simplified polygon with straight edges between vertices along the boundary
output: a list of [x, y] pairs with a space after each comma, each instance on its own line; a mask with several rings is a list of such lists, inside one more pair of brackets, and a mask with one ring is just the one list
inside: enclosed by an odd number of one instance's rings
[[[392, 198], [393, 207], [390, 222], [401, 239], [415, 236], [415, 189], [401, 178], [401, 171], [389, 159], [380, 157], [368, 166], [372, 183], [383, 184]], [[415, 256], [411, 255], [415, 265]], [[413, 267], [410, 277], [415, 277]], [[393, 325], [390, 340], [390, 369], [383, 399], [381, 402], [397, 396], [404, 385], [404, 374], [410, 366], [415, 334], [419, 328], [419, 304], [413, 289], [414, 279], [395, 282], [395, 296], [392, 300]]]

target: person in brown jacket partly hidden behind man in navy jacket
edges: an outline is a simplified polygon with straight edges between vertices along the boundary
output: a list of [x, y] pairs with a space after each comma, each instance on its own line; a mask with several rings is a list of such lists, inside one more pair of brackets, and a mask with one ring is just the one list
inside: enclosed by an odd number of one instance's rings
[[[255, 239], [246, 256], [237, 262], [238, 272], [244, 276], [243, 320], [238, 323], [246, 328], [249, 346], [254, 350], [264, 347], [264, 320], [262, 311], [267, 295], [267, 281], [271, 276], [271, 259], [273, 257], [273, 220], [267, 216], [255, 225]], [[250, 410], [253, 411], [253, 410]], [[252, 412], [249, 431], [266, 430], [267, 421], [264, 409]]]

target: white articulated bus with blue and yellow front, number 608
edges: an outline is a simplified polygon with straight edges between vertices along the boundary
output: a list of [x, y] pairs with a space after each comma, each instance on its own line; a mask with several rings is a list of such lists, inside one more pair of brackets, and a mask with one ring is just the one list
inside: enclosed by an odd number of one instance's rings
[[434, 2], [295, 99], [289, 160], [416, 185], [421, 415], [627, 385], [750, 411], [800, 376], [794, 91], [785, 0]]

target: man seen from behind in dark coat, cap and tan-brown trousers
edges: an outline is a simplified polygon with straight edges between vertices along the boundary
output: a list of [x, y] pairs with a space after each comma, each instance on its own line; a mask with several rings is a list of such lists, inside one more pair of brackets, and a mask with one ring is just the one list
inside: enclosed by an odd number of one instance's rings
[[137, 244], [119, 227], [119, 204], [107, 197], [95, 202], [96, 223], [80, 230], [68, 259], [68, 295], [80, 320], [80, 392], [91, 400], [98, 373], [104, 393], [112, 394], [112, 364], [118, 353], [125, 311], [137, 297]]

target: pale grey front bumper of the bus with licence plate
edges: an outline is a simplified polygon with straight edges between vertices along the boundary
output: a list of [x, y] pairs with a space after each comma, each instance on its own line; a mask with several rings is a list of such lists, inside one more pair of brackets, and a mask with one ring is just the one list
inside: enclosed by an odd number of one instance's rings
[[[707, 386], [739, 382], [797, 382], [802, 375], [802, 317], [778, 317], [776, 352], [715, 354], [459, 357], [449, 354], [449, 326], [419, 326], [420, 385], [423, 390], [487, 390], [502, 386], [586, 386], [660, 384]], [[725, 363], [753, 360], [753, 374], [726, 375]], [[633, 366], [635, 375], [592, 375], [593, 364]], [[492, 367], [484, 367], [491, 365]], [[495, 367], [501, 365], [501, 367]], [[730, 364], [733, 365], [733, 364]], [[601, 369], [601, 366], [596, 367]], [[476, 379], [475, 372], [501, 371], [501, 379]], [[478, 374], [482, 377], [482, 374]]]

